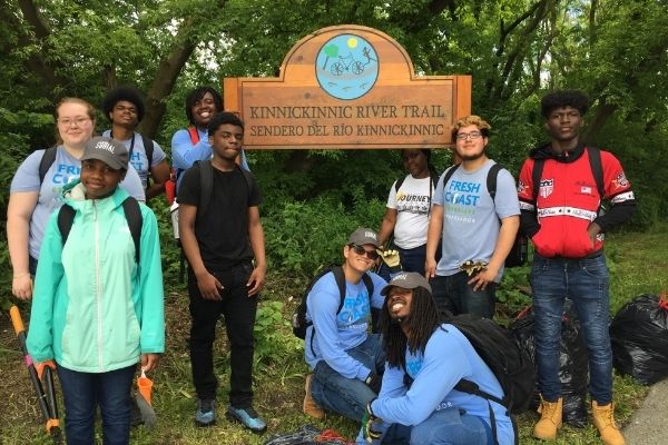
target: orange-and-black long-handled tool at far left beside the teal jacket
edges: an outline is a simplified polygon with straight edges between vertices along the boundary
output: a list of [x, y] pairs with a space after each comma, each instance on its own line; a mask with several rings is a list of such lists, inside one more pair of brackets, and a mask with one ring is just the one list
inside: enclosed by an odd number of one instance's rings
[[60, 431], [60, 422], [58, 421], [58, 405], [56, 403], [56, 388], [53, 386], [56, 365], [52, 360], [48, 360], [40, 364], [40, 369], [35, 366], [32, 357], [30, 357], [26, 347], [26, 328], [23, 327], [23, 319], [21, 318], [19, 308], [12, 306], [9, 309], [9, 315], [26, 358], [26, 367], [37, 394], [37, 403], [46, 424], [47, 434], [53, 438], [55, 444], [62, 444], [62, 433]]

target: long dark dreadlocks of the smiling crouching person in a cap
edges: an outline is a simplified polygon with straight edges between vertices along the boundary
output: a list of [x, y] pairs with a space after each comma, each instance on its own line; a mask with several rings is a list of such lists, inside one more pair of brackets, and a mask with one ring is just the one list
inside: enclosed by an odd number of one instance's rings
[[404, 334], [401, 324], [390, 316], [389, 298], [385, 298], [383, 310], [381, 310], [379, 327], [383, 335], [383, 346], [390, 367], [405, 369], [406, 346], [411, 354], [415, 354], [418, 350], [424, 353], [426, 343], [441, 324], [439, 309], [431, 293], [423, 287], [416, 287], [412, 289], [412, 293], [411, 314], [407, 319], [403, 320], [409, 324], [410, 338]]

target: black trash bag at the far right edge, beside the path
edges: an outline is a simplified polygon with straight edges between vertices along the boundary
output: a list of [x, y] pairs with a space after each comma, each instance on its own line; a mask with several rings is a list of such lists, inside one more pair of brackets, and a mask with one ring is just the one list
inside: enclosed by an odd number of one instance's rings
[[641, 295], [627, 303], [610, 325], [612, 363], [644, 385], [668, 377], [668, 301]]

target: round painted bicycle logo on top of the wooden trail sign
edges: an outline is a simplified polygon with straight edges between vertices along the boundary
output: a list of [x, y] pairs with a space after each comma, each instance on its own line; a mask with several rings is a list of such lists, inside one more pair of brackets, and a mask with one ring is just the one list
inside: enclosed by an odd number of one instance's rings
[[343, 100], [357, 99], [371, 91], [379, 78], [379, 57], [363, 37], [338, 34], [320, 49], [315, 75], [327, 95]]

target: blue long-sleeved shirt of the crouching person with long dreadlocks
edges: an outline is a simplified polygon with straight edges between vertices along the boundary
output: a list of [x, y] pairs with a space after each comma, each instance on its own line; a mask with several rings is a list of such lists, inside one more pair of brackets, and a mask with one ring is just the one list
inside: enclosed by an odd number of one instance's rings
[[[406, 373], [413, 378], [410, 390], [404, 383], [404, 370], [386, 365], [379, 398], [371, 403], [377, 417], [386, 424], [415, 426], [435, 411], [456, 407], [491, 425], [488, 400], [461, 393], [454, 386], [465, 378], [499, 398], [502, 398], [503, 389], [492, 370], [456, 327], [442, 325], [426, 343], [424, 354], [412, 354], [406, 348], [405, 359]], [[494, 411], [499, 444], [513, 444], [514, 433], [505, 407], [495, 402], [490, 404]]]

